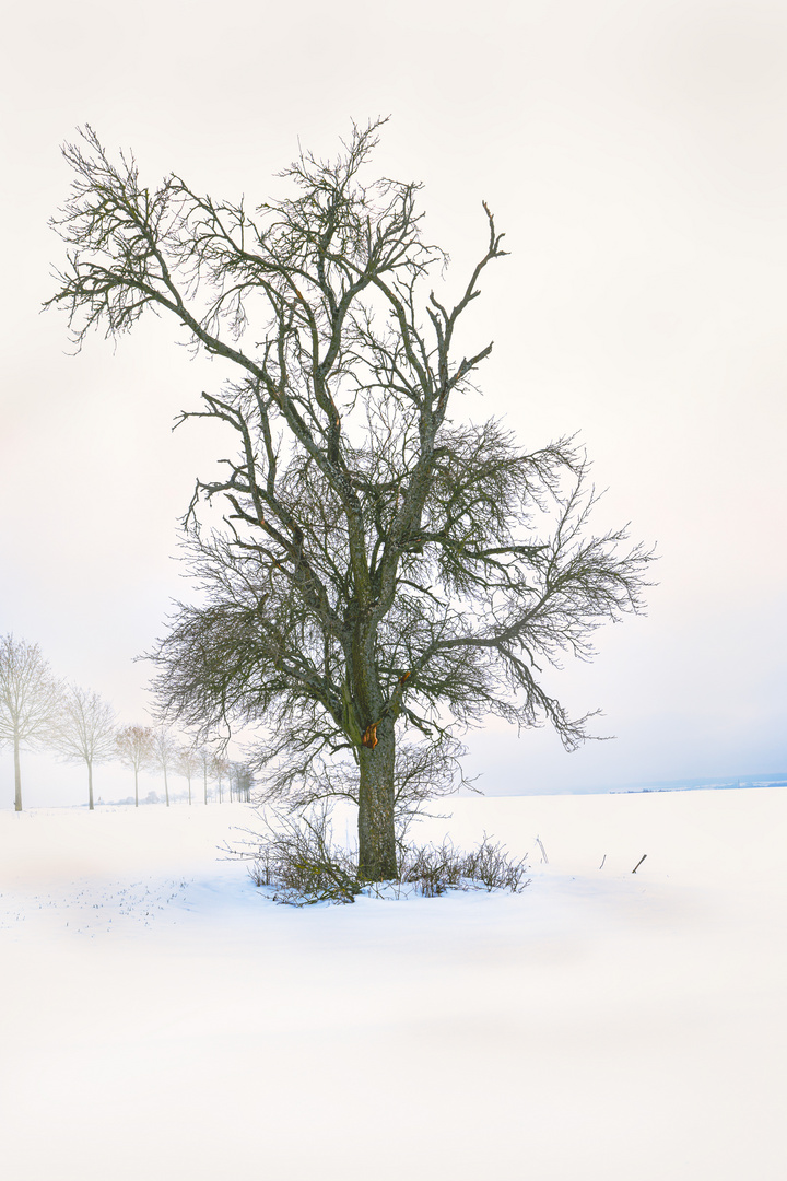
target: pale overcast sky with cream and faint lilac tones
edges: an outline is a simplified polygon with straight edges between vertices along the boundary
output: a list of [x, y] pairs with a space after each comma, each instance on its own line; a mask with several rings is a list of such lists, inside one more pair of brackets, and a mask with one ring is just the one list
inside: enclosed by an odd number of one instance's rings
[[[198, 424], [170, 433], [224, 376], [171, 325], [73, 358], [39, 314], [59, 144], [88, 122], [151, 184], [175, 169], [254, 203], [299, 137], [333, 152], [350, 118], [389, 113], [376, 167], [425, 183], [457, 280], [481, 198], [507, 234], [474, 307], [484, 411], [529, 446], [579, 431], [599, 524], [661, 554], [648, 618], [553, 683], [617, 740], [569, 756], [496, 723], [470, 769], [492, 792], [787, 768], [782, 0], [33, 0], [2, 40], [0, 633], [143, 719], [132, 658], [189, 594], [176, 521], [217, 452]], [[5, 807], [7, 753], [0, 781]]]

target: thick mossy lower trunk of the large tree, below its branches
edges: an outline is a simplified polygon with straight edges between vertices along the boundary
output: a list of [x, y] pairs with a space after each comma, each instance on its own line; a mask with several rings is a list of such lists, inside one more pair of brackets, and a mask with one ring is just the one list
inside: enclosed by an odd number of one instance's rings
[[393, 718], [378, 724], [375, 737], [376, 745], [359, 748], [358, 874], [380, 882], [396, 876]]

